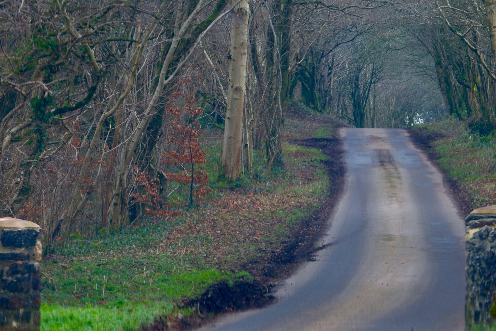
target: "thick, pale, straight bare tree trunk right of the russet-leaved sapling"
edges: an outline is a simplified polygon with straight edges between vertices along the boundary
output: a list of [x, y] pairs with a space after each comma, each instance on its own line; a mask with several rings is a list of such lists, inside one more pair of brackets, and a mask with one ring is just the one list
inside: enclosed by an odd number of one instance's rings
[[[236, 3], [233, 0], [233, 4]], [[247, 0], [234, 8], [231, 25], [229, 87], [222, 150], [222, 172], [226, 178], [237, 179], [241, 172], [242, 125], [245, 109], [246, 63], [248, 45], [249, 5]]]

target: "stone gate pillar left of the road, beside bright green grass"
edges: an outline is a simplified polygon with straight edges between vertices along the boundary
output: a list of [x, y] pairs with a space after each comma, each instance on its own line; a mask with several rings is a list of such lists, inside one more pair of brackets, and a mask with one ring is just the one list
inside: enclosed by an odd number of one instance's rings
[[0, 218], [0, 331], [40, 330], [40, 226]]

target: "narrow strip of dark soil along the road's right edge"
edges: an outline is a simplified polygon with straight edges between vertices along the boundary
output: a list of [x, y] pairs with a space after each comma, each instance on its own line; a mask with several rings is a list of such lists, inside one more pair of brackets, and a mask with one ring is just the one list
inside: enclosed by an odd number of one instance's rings
[[421, 150], [426, 151], [429, 159], [431, 161], [434, 161], [433, 164], [443, 175], [443, 181], [447, 184], [451, 195], [455, 199], [460, 214], [463, 216], [463, 218], [465, 218], [467, 214], [475, 209], [475, 207], [472, 205], [471, 199], [469, 198], [464, 188], [460, 185], [460, 183], [458, 181], [450, 179], [447, 176], [446, 171], [444, 169], [441, 169], [437, 165], [437, 162], [435, 162], [435, 160], [438, 159], [438, 156], [434, 153], [433, 142], [436, 139], [444, 137], [444, 135], [441, 132], [429, 132], [425, 128], [409, 129], [408, 132], [410, 133], [410, 137], [412, 138], [413, 143]]

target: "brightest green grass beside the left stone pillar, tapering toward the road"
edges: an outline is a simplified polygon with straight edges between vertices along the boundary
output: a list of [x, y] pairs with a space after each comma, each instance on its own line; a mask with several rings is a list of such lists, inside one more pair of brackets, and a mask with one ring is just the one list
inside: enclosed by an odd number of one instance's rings
[[226, 276], [216, 270], [178, 272], [178, 275], [172, 275], [170, 278], [156, 279], [157, 285], [152, 291], [145, 290], [141, 293], [147, 292], [147, 299], [133, 300], [126, 295], [114, 295], [114, 300], [102, 305], [96, 305], [95, 302], [93, 305], [88, 303], [82, 307], [45, 304], [41, 307], [41, 330], [139, 330], [143, 323], [153, 321], [154, 317], [160, 314], [170, 315], [175, 312], [187, 316], [190, 309], [179, 311], [174, 305], [175, 301], [203, 293], [209, 285], [218, 281], [234, 282], [235, 279], [249, 280], [250, 277], [243, 272]]

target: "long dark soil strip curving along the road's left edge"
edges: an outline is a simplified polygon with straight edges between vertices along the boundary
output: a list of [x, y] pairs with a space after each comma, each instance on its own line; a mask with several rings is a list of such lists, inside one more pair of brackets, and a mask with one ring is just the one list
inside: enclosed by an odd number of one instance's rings
[[[319, 122], [339, 126], [330, 120]], [[345, 166], [341, 141], [337, 136], [288, 140], [294, 144], [320, 149], [328, 156], [324, 163], [330, 185], [325, 203], [294, 229], [289, 239], [283, 243], [282, 250], [271, 252], [265, 261], [249, 261], [239, 265], [240, 270], [249, 271], [256, 281], [240, 281], [234, 286], [225, 282], [215, 284], [199, 298], [183, 303], [183, 307], [196, 308], [189, 317], [159, 316], [153, 324], [143, 326], [143, 331], [190, 330], [219, 314], [266, 306], [274, 300], [270, 295], [274, 284], [293, 273], [300, 263], [311, 260], [312, 255], [321, 249], [314, 248], [314, 244], [326, 230], [329, 216], [344, 187]]]

